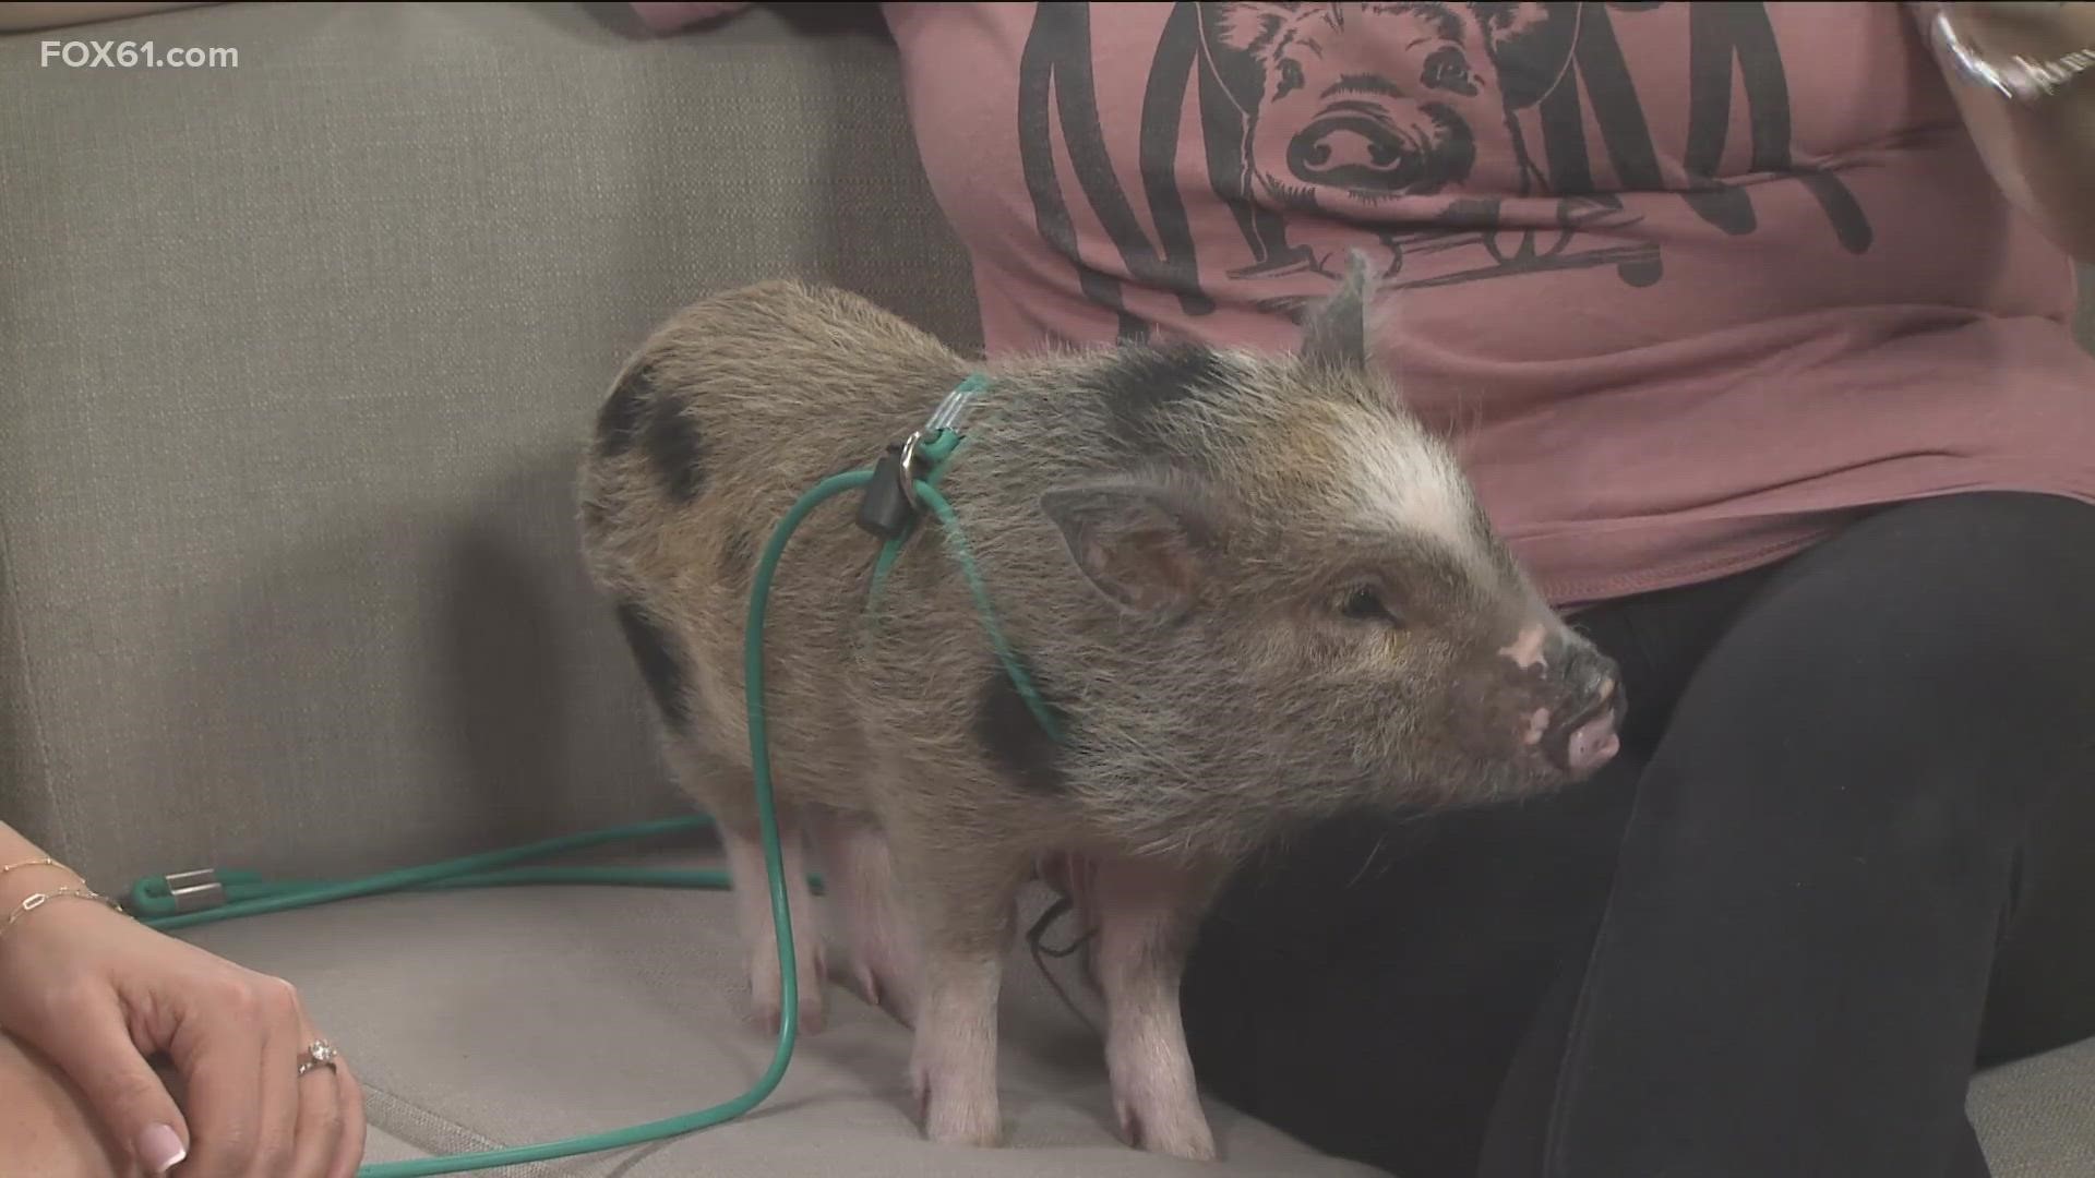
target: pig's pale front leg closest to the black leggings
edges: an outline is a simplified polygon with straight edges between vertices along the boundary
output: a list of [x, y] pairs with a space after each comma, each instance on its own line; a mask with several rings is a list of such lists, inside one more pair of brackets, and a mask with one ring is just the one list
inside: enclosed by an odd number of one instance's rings
[[1215, 1134], [1186, 1050], [1179, 977], [1217, 874], [1140, 859], [1096, 859], [1089, 874], [1121, 1132], [1150, 1153], [1211, 1161]]

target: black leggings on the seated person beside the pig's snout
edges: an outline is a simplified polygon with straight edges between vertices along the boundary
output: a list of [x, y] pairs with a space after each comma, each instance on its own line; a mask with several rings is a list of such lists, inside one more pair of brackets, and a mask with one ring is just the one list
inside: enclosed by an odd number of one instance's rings
[[1986, 1178], [1973, 1065], [2095, 1035], [2095, 507], [1904, 503], [1575, 625], [1622, 759], [1247, 870], [1203, 1082], [1404, 1178]]

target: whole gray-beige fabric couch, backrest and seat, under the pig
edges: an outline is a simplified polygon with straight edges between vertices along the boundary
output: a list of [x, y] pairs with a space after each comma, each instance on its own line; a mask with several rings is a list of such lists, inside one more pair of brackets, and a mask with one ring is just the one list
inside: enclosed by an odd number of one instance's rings
[[[576, 442], [706, 287], [823, 277], [972, 340], [876, 25], [658, 42], [616, 6], [239, 4], [78, 36], [239, 65], [42, 69], [42, 36], [0, 40], [0, 813], [117, 887], [677, 811], [576, 560]], [[369, 1082], [373, 1159], [683, 1113], [769, 1059], [721, 893], [385, 897], [191, 935], [302, 987]], [[756, 1115], [532, 1172], [1364, 1172], [1221, 1107], [1221, 1168], [1127, 1151], [1029, 960], [1006, 1025], [1014, 1149], [922, 1142], [905, 1035], [838, 998]], [[2095, 1174], [2091, 1100], [2095, 1044], [1973, 1088], [2003, 1176]]]

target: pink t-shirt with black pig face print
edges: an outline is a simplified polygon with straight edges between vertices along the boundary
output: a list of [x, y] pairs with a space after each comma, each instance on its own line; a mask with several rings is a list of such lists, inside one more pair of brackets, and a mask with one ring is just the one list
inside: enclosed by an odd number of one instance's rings
[[2074, 268], [1898, 4], [884, 10], [991, 350], [1293, 346], [1364, 247], [1383, 358], [1559, 604], [1871, 503], [2095, 499]]

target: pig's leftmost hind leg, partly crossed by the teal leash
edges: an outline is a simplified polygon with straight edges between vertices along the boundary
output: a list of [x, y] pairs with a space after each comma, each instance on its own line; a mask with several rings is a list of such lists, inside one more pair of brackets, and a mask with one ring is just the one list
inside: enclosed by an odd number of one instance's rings
[[[670, 763], [683, 788], [712, 813], [727, 851], [727, 874], [735, 891], [735, 924], [750, 977], [750, 1012], [767, 1033], [777, 1033], [784, 994], [779, 987], [777, 924], [771, 920], [771, 876], [765, 868], [763, 826], [756, 820], [756, 780], [740, 765], [710, 757], [687, 744], [670, 746]], [[777, 805], [779, 866], [786, 874], [786, 903], [792, 916], [794, 979], [800, 987], [796, 1010], [800, 1029], [821, 1031], [825, 1023], [828, 952], [821, 914], [809, 889], [807, 830], [798, 809]]]

